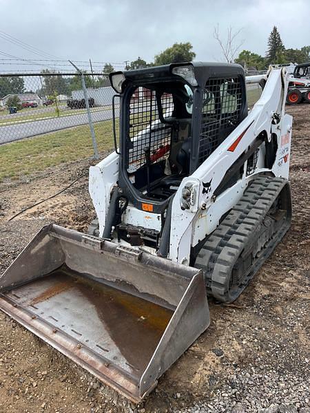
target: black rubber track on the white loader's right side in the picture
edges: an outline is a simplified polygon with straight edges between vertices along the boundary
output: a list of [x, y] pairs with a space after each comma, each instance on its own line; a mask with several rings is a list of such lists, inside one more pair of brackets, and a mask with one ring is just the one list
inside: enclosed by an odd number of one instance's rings
[[[276, 202], [280, 202], [282, 210], [282, 218], [278, 222], [271, 215]], [[285, 178], [269, 176], [254, 178], [240, 201], [198, 253], [194, 266], [203, 270], [207, 293], [227, 303], [238, 298], [290, 224], [289, 182]], [[268, 227], [274, 232], [268, 233]], [[246, 260], [249, 262], [247, 267]], [[236, 282], [233, 274], [236, 271], [240, 273], [240, 263], [246, 271]]]

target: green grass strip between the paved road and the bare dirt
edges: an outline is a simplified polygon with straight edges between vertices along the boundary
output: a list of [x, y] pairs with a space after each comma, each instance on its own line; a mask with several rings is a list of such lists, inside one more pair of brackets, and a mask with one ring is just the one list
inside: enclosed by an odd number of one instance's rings
[[[112, 120], [94, 123], [94, 130], [99, 151], [112, 149]], [[4, 178], [18, 179], [93, 154], [88, 125], [0, 145], [0, 182]]]

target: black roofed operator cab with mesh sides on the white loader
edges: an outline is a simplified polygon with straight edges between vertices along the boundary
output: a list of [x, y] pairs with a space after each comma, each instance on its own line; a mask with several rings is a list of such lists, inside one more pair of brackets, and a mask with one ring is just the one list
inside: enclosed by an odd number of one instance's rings
[[162, 213], [247, 116], [239, 65], [180, 63], [110, 74], [120, 93], [118, 185], [134, 207]]

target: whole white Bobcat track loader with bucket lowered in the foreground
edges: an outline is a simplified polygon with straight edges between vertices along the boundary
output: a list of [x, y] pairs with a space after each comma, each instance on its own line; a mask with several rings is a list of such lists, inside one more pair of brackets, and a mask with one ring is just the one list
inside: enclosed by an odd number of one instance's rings
[[[0, 308], [133, 401], [230, 303], [289, 228], [287, 75], [248, 112], [239, 65], [110, 76], [115, 151], [90, 168], [90, 234], [43, 227], [0, 278]], [[116, 123], [119, 111], [119, 125]], [[116, 129], [119, 130], [119, 145]]]

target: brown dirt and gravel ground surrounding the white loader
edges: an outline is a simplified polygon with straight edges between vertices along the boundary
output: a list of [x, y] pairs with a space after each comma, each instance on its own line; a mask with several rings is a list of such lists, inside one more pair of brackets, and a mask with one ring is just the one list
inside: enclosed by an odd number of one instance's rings
[[[134, 406], [0, 313], [0, 412], [310, 412], [310, 105], [294, 116], [293, 222], [232, 305], [209, 299], [211, 325]], [[47, 222], [85, 231], [94, 210], [83, 177], [59, 197], [8, 222], [81, 176], [74, 162], [0, 188], [0, 273]]]

